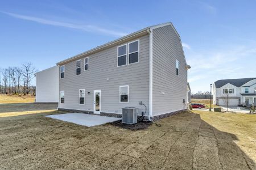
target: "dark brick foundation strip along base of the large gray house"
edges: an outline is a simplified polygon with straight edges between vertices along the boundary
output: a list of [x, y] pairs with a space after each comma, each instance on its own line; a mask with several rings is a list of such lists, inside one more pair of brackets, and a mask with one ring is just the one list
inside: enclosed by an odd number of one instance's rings
[[[76, 110], [76, 109], [63, 109], [63, 108], [59, 108], [58, 111], [64, 111], [64, 112], [72, 112], [72, 113], [85, 113], [85, 114], [94, 114], [93, 111], [81, 111], [81, 110]], [[166, 114], [160, 114], [158, 116], [153, 116], [151, 117], [152, 121], [156, 121], [159, 120], [161, 118], [165, 118], [183, 111], [187, 111], [187, 109], [183, 109], [180, 111], [176, 111], [176, 112], [170, 112], [170, 113], [166, 113]], [[98, 115], [98, 114], [96, 114]], [[106, 113], [106, 112], [101, 112], [100, 116], [108, 116], [108, 117], [118, 117], [118, 118], [122, 118], [122, 114], [118, 114], [118, 113]], [[140, 116], [138, 115], [138, 121], [147, 121], [148, 120], [148, 116]]]

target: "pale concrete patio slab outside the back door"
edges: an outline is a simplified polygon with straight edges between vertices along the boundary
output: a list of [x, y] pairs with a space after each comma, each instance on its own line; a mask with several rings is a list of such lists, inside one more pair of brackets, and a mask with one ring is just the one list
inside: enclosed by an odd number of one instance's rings
[[100, 116], [100, 115], [94, 115], [94, 114], [84, 114], [84, 113], [54, 114], [54, 115], [48, 115], [46, 117], [51, 117], [58, 120], [71, 122], [77, 125], [83, 125], [88, 127], [102, 125], [109, 122], [121, 120], [121, 118]]

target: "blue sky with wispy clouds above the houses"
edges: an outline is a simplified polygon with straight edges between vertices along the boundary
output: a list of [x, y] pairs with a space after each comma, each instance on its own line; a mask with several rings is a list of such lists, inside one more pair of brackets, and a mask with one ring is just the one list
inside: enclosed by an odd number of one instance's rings
[[192, 92], [256, 77], [256, 1], [2, 1], [0, 67], [44, 70], [144, 27], [172, 22]]

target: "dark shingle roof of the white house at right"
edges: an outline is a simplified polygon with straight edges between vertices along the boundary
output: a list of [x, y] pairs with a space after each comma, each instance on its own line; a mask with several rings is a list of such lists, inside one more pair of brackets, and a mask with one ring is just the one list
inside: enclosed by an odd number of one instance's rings
[[225, 84], [233, 84], [236, 87], [240, 87], [243, 84], [250, 82], [250, 80], [253, 80], [256, 78], [243, 78], [243, 79], [225, 79], [225, 80], [217, 80], [215, 83], [215, 87], [216, 88], [220, 88], [222, 86], [224, 86]]

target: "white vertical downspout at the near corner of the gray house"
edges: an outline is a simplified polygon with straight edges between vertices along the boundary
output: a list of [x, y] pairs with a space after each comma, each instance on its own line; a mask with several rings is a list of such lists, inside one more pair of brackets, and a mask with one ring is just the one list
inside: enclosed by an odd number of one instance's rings
[[149, 61], [150, 61], [150, 84], [149, 84], [149, 109], [148, 109], [148, 121], [152, 121], [152, 70], [153, 70], [153, 30], [149, 28], [148, 33], [150, 35], [150, 46], [149, 46]]

